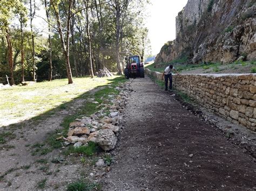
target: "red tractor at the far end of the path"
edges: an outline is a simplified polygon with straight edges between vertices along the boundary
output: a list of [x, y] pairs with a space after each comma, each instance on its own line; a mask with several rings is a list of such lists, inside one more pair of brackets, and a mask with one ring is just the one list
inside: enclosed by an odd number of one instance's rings
[[145, 77], [144, 76], [144, 65], [143, 62], [140, 62], [143, 60], [143, 57], [139, 58], [138, 55], [133, 55], [126, 57], [126, 67], [124, 69], [124, 75], [126, 79], [129, 79], [130, 77]]

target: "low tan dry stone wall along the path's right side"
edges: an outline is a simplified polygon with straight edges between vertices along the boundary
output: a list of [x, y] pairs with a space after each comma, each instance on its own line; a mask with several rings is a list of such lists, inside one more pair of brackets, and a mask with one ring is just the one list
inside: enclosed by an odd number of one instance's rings
[[[161, 73], [145, 71], [161, 80]], [[173, 75], [173, 87], [228, 121], [256, 131], [255, 74]]]

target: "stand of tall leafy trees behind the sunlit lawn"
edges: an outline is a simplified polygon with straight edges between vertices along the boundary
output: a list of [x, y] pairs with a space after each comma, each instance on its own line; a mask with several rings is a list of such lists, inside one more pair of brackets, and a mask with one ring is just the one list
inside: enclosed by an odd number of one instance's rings
[[[107, 67], [121, 74], [124, 57], [144, 55], [147, 0], [2, 0], [0, 83], [95, 75]], [[39, 4], [39, 5], [38, 5]], [[38, 7], [40, 6], [40, 7]], [[44, 8], [45, 29], [33, 22]], [[30, 28], [30, 29], [29, 29]]]

